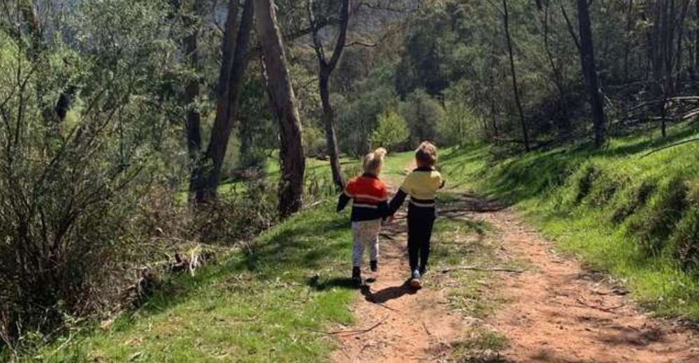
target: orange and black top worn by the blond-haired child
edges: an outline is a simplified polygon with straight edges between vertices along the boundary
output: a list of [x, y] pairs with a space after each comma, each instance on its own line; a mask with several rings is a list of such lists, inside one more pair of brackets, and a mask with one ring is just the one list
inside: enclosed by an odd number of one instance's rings
[[385, 218], [389, 211], [389, 192], [386, 184], [375, 175], [365, 173], [347, 183], [345, 192], [340, 194], [338, 212], [349, 200], [352, 203], [352, 222], [373, 221]]

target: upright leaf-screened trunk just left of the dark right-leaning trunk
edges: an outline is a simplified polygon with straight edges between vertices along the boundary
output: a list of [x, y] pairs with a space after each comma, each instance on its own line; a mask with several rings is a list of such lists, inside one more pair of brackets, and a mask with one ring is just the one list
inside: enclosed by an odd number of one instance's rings
[[[194, 15], [201, 15], [201, 1], [194, 1]], [[186, 27], [193, 27], [195, 20], [185, 16]], [[189, 29], [191, 33], [185, 38], [185, 56], [189, 58], [189, 66], [199, 71], [199, 29]], [[192, 77], [185, 86], [183, 103], [191, 109], [185, 120], [187, 134], [187, 151], [189, 154], [189, 200], [196, 199], [196, 191], [201, 181], [201, 114], [198, 108], [192, 107], [201, 93], [199, 75]]]

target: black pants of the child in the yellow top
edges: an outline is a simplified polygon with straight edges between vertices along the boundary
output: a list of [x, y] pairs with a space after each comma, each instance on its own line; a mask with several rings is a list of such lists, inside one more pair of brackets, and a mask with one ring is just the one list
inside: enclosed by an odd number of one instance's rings
[[427, 267], [435, 216], [435, 207], [408, 205], [408, 258], [411, 272], [418, 268], [424, 272]]

